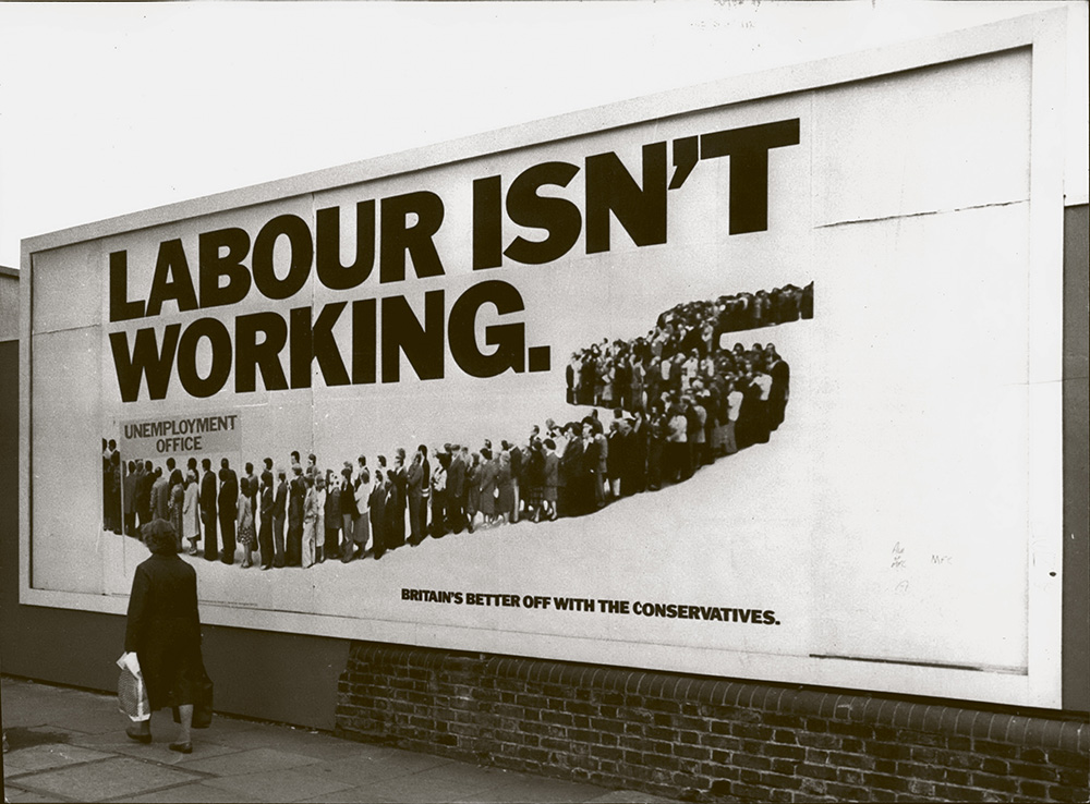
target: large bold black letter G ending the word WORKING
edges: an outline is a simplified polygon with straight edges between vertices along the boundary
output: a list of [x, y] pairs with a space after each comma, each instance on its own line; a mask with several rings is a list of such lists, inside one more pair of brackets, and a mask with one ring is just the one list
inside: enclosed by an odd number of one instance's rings
[[484, 341], [496, 346], [491, 354], [483, 354], [474, 334], [476, 315], [485, 304], [493, 304], [499, 315], [525, 309], [518, 290], [507, 282], [488, 280], [473, 285], [450, 308], [450, 354], [471, 377], [497, 377], [508, 368], [521, 373], [525, 361], [525, 326], [504, 324], [485, 327]]

